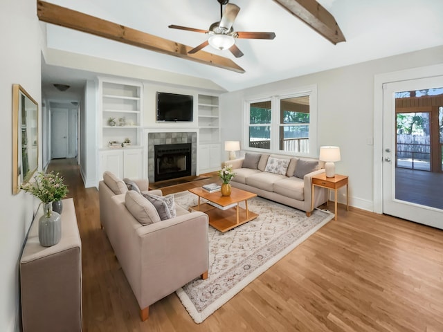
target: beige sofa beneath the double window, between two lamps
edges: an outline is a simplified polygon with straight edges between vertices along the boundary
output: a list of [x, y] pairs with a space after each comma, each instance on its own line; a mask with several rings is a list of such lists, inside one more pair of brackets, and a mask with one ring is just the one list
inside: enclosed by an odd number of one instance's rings
[[[233, 166], [233, 187], [305, 211], [307, 216], [312, 211], [311, 177], [325, 172], [318, 159], [269, 154], [246, 153], [243, 158], [225, 161], [222, 167], [225, 165]], [[314, 208], [325, 202], [325, 189], [315, 187]]]

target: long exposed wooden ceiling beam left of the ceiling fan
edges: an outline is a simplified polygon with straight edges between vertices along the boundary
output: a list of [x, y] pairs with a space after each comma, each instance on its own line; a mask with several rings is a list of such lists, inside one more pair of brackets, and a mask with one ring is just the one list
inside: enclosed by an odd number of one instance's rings
[[192, 49], [190, 46], [150, 35], [149, 33], [143, 33], [139, 30], [134, 30], [111, 21], [105, 21], [104, 19], [57, 6], [46, 1], [37, 1], [37, 16], [40, 21], [56, 24], [57, 26], [91, 33], [99, 37], [153, 50], [154, 52], [181, 57], [201, 64], [244, 73], [242, 67], [226, 57], [220, 57], [202, 50], [195, 54], [188, 54], [188, 51]]

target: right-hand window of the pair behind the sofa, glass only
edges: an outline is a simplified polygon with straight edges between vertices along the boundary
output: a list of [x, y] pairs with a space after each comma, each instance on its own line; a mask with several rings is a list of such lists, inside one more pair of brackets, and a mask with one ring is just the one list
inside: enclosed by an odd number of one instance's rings
[[279, 149], [309, 152], [309, 95], [280, 100]]

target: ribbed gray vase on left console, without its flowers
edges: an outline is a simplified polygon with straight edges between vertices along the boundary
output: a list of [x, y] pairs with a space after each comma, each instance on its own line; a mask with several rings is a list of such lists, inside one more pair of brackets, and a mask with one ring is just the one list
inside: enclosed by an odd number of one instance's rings
[[60, 214], [53, 212], [52, 203], [43, 203], [43, 215], [39, 219], [39, 241], [44, 247], [59, 243], [62, 238]]

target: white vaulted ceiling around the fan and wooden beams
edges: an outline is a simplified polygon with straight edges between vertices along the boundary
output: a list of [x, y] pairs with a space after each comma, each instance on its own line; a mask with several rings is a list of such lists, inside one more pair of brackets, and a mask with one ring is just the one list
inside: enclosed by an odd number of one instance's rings
[[[208, 29], [219, 21], [217, 0], [48, 0], [59, 6], [113, 21], [188, 46], [206, 35], [168, 28], [170, 24]], [[204, 50], [229, 57], [246, 73], [154, 53], [48, 24], [47, 46], [126, 64], [161, 69], [212, 80], [235, 91], [289, 77], [324, 71], [443, 44], [442, 0], [318, 0], [336, 19], [346, 42], [337, 45], [302, 23], [272, 0], [232, 0], [241, 8], [237, 31], [274, 32], [273, 40], [237, 39], [244, 56]], [[44, 86], [82, 81], [86, 72], [43, 65]], [[71, 82], [75, 84], [74, 81]]]

